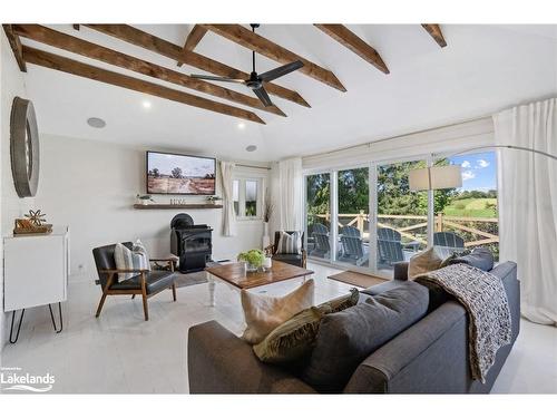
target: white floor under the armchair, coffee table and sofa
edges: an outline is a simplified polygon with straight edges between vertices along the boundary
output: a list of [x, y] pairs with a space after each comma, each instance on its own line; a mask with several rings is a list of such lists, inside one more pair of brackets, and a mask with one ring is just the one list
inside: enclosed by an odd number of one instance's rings
[[[350, 289], [326, 279], [338, 270], [319, 264], [311, 269], [316, 273], [317, 303]], [[299, 283], [292, 280], [261, 290], [284, 294]], [[140, 299], [129, 297], [108, 298], [95, 319], [99, 297], [92, 280], [71, 283], [60, 334], [53, 333], [47, 308], [27, 311], [18, 343], [3, 349], [2, 367], [50, 372], [56, 377], [52, 391], [60, 393], [187, 393], [188, 328], [214, 319], [236, 333], [242, 330], [240, 294], [222, 282], [215, 308], [208, 305], [207, 284], [178, 289], [174, 303], [169, 291], [162, 292], [149, 300], [148, 322], [143, 320]], [[557, 393], [557, 328], [522, 321], [492, 392]]]

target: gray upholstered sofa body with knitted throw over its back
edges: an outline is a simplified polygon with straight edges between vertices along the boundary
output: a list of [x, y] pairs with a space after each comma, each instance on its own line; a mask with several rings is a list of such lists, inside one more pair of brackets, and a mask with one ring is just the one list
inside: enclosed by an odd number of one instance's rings
[[[407, 280], [408, 265], [395, 268], [393, 281], [370, 288], [381, 294]], [[429, 309], [418, 322], [394, 336], [361, 361], [343, 393], [487, 393], [494, 386], [519, 332], [520, 288], [516, 264], [491, 273], [501, 278], [510, 304], [512, 343], [499, 349], [486, 383], [472, 380], [468, 356], [468, 318], [461, 304], [429, 290]], [[266, 364], [252, 347], [215, 321], [189, 329], [190, 393], [316, 393], [296, 369]]]

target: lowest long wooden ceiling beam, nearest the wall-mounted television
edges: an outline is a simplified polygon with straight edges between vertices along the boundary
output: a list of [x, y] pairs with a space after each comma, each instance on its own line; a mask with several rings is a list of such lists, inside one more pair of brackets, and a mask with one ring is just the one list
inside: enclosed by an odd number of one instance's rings
[[35, 64], [41, 67], [51, 68], [58, 71], [72, 74], [75, 76], [89, 78], [91, 80], [127, 88], [129, 90], [162, 97], [168, 100], [178, 101], [205, 110], [234, 116], [250, 121], [255, 121], [257, 124], [265, 124], [257, 115], [250, 110], [213, 101], [204, 97], [190, 95], [185, 91], [174, 90], [155, 82], [140, 80], [138, 78], [125, 76], [119, 72], [108, 71], [102, 68], [75, 61], [72, 59], [60, 57], [55, 54], [45, 52], [39, 49], [23, 46], [23, 59], [29, 64]]

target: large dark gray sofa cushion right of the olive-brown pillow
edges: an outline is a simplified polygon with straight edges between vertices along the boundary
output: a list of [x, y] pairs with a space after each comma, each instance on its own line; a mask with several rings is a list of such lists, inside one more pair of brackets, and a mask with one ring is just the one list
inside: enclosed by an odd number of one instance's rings
[[326, 314], [302, 379], [321, 392], [339, 392], [371, 352], [420, 320], [428, 291], [405, 282], [364, 303]]

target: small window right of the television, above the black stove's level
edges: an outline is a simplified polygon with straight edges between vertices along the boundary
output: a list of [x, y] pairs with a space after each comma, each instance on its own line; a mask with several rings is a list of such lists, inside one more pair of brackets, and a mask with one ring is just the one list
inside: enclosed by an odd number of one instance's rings
[[234, 212], [237, 220], [262, 217], [263, 178], [235, 178], [232, 183]]

